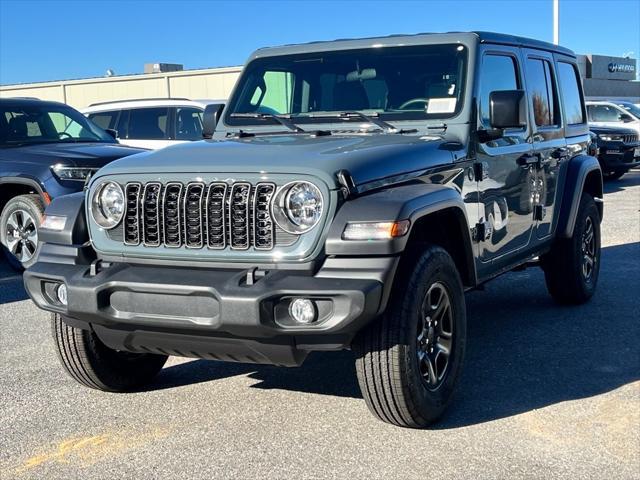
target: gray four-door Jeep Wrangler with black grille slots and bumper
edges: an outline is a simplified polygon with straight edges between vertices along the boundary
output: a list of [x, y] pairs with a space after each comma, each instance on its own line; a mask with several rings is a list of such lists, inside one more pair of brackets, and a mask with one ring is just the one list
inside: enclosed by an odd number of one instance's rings
[[570, 50], [493, 33], [261, 49], [209, 113], [209, 140], [113, 162], [46, 211], [25, 285], [86, 386], [139, 388], [168, 355], [352, 349], [371, 411], [423, 427], [460, 377], [465, 291], [536, 265], [559, 303], [594, 293], [602, 174]]

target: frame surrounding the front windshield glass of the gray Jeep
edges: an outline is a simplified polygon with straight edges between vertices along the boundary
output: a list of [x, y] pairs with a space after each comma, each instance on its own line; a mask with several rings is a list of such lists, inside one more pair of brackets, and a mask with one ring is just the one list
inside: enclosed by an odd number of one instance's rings
[[[248, 118], [248, 116], [237, 115], [238, 113], [242, 114], [245, 112], [236, 112], [236, 106], [240, 102], [240, 97], [243, 95], [243, 89], [245, 84], [250, 80], [250, 76], [254, 74], [256, 71], [274, 71], [277, 69], [270, 69], [268, 65], [270, 62], [274, 60], [281, 61], [284, 59], [290, 59], [293, 61], [304, 61], [305, 59], [318, 58], [322, 55], [329, 54], [343, 54], [356, 56], [359, 53], [368, 53], [371, 51], [380, 51], [385, 50], [389, 52], [390, 55], [393, 55], [391, 51], [397, 50], [398, 52], [407, 52], [413, 51], [416, 53], [420, 53], [420, 50], [425, 51], [427, 53], [428, 49], [433, 49], [437, 47], [456, 47], [463, 48], [461, 50], [463, 52], [462, 58], [462, 66], [459, 71], [459, 86], [456, 97], [451, 97], [456, 99], [456, 105], [453, 112], [450, 113], [426, 113], [426, 111], [419, 110], [396, 110], [396, 111], [381, 111], [380, 109], [364, 109], [358, 110], [358, 113], [370, 115], [376, 117], [385, 122], [391, 122], [393, 124], [397, 122], [405, 122], [405, 121], [419, 121], [424, 123], [434, 123], [434, 122], [442, 122], [443, 120], [450, 120], [459, 116], [465, 110], [465, 104], [467, 101], [467, 94], [469, 90], [469, 71], [472, 67], [472, 63], [474, 61], [473, 51], [469, 45], [463, 42], [456, 41], [446, 41], [446, 42], [437, 42], [437, 43], [417, 43], [417, 44], [407, 44], [407, 45], [385, 45], [382, 48], [375, 46], [368, 47], [359, 47], [359, 48], [345, 48], [345, 49], [336, 49], [331, 50], [327, 49], [324, 51], [312, 51], [312, 52], [293, 52], [290, 54], [281, 54], [275, 56], [258, 56], [253, 58], [251, 61], [247, 63], [245, 69], [238, 80], [236, 87], [233, 91], [233, 94], [225, 108], [224, 116], [223, 116], [223, 125], [233, 130], [237, 127], [271, 127], [271, 126], [281, 126], [276, 120], [273, 118], [269, 118], [269, 116], [257, 117], [257, 118]], [[267, 67], [267, 68], [265, 68]], [[283, 113], [279, 114], [279, 116], [284, 117], [290, 121], [293, 121], [296, 125], [310, 125], [310, 124], [344, 124], [344, 123], [362, 123], [362, 118], [358, 118], [358, 116], [345, 116], [344, 113], [351, 113], [350, 111], [342, 111], [342, 110], [316, 110], [313, 112], [300, 112], [300, 113]], [[236, 115], [234, 115], [236, 114]]]

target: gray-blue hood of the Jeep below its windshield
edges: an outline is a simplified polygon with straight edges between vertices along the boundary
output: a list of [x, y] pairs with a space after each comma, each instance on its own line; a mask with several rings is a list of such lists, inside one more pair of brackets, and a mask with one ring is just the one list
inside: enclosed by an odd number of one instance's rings
[[439, 136], [407, 134], [268, 135], [184, 143], [113, 162], [94, 178], [132, 173], [304, 173], [336, 188], [346, 169], [357, 186], [449, 164]]

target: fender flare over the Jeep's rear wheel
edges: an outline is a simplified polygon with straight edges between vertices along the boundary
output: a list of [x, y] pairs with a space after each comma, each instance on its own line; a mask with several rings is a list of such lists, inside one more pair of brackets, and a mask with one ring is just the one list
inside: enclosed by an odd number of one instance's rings
[[596, 200], [600, 220], [604, 214], [602, 170], [600, 163], [589, 155], [577, 155], [569, 161], [564, 182], [557, 236], [571, 238], [576, 224], [582, 193], [588, 191]]

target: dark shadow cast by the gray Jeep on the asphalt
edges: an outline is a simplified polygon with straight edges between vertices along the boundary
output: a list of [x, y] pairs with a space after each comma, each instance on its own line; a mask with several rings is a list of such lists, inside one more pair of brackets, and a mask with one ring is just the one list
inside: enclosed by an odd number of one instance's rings
[[[464, 373], [435, 428], [509, 417], [639, 380], [637, 295], [630, 295], [640, 285], [638, 258], [640, 243], [603, 248], [598, 292], [581, 306], [556, 305], [536, 268], [468, 294]], [[165, 368], [151, 389], [236, 375], [258, 380], [252, 388], [361, 397], [350, 352], [312, 354], [293, 369], [196, 360]]]

